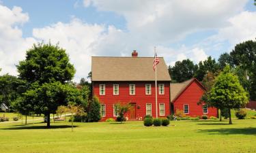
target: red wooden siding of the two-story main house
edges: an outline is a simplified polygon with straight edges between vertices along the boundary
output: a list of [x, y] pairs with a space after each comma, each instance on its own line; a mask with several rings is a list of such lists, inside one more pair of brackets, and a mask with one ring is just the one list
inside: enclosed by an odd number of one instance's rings
[[[105, 95], [100, 95], [100, 84], [105, 84]], [[119, 84], [119, 95], [113, 95], [113, 84]], [[130, 95], [129, 84], [135, 84], [135, 95]], [[152, 95], [145, 95], [145, 84], [151, 84]], [[158, 116], [159, 103], [165, 103], [165, 116], [168, 116], [170, 114], [170, 84], [169, 82], [158, 82], [158, 84], [165, 84], [165, 95], [158, 95]], [[152, 116], [156, 117], [154, 82], [93, 82], [93, 88], [94, 95], [100, 99], [100, 103], [106, 104], [106, 116], [102, 120], [115, 118], [113, 105], [117, 102], [136, 103], [136, 120], [143, 120], [146, 114], [146, 103], [152, 103]], [[126, 117], [130, 119], [130, 114], [126, 114]]]

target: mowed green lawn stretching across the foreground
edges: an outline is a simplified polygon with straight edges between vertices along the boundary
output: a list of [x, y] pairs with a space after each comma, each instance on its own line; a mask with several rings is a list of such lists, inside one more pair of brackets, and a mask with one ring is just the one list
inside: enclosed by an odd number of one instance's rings
[[143, 122], [0, 124], [5, 152], [256, 152], [256, 120], [173, 121], [145, 127]]

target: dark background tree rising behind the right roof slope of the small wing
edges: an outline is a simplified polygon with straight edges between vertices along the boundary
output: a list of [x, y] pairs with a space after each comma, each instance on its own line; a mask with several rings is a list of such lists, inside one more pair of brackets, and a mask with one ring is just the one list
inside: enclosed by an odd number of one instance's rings
[[208, 71], [216, 73], [219, 69], [219, 65], [216, 63], [215, 59], [209, 56], [207, 60], [199, 62], [197, 72], [194, 76], [201, 82]]

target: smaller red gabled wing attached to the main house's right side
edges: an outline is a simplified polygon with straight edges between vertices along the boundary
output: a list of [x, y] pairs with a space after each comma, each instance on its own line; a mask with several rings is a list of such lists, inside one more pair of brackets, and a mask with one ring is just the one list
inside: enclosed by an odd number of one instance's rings
[[218, 109], [208, 107], [206, 104], [197, 105], [201, 99], [205, 88], [195, 78], [182, 83], [171, 83], [171, 109], [176, 112], [177, 109], [184, 112], [186, 116], [218, 117]]

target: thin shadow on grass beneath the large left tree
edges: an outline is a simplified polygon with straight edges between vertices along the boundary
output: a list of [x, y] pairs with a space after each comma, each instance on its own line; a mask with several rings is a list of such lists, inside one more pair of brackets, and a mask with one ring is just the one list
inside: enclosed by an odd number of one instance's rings
[[[29, 129], [66, 129], [71, 128], [71, 125], [51, 125], [50, 128], [42, 125], [15, 125], [15, 126], [8, 126], [6, 128], [1, 128], [0, 130], [29, 130]], [[77, 126], [73, 126], [74, 128]]]

